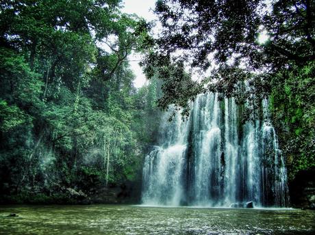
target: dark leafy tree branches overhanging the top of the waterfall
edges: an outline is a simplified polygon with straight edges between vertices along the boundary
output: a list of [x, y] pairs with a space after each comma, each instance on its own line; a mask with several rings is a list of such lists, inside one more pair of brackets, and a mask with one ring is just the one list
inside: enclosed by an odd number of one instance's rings
[[[160, 107], [175, 103], [186, 110], [206, 91], [237, 96], [245, 80], [257, 94], [268, 94], [273, 74], [315, 59], [314, 12], [310, 0], [157, 1], [162, 33], [142, 65], [147, 77], [164, 80]], [[264, 44], [260, 33], [268, 35]]]

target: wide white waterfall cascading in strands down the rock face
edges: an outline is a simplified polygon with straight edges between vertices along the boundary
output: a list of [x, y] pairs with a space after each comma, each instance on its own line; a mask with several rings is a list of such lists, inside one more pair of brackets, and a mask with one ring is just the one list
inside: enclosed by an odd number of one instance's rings
[[287, 206], [286, 167], [267, 105], [263, 120], [242, 125], [234, 98], [201, 94], [188, 120], [165, 120], [159, 146], [144, 161], [142, 203]]

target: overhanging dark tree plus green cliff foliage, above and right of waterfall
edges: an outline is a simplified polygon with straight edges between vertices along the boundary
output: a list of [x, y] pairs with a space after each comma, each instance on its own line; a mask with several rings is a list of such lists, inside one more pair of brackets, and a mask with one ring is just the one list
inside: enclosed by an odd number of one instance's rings
[[188, 115], [197, 94], [218, 92], [252, 102], [248, 120], [270, 97], [290, 179], [314, 167], [314, 1], [158, 0], [155, 13], [162, 32], [142, 65], [164, 82], [159, 107]]

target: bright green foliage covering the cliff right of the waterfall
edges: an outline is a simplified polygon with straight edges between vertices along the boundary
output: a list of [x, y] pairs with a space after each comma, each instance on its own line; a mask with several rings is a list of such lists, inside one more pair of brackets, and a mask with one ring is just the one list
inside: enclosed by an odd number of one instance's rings
[[290, 178], [315, 167], [315, 63], [279, 72], [270, 96], [273, 120]]

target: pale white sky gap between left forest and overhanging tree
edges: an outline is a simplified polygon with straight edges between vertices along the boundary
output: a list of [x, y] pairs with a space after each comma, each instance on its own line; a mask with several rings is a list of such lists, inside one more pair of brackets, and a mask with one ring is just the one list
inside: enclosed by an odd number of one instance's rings
[[[148, 21], [156, 19], [155, 15], [153, 14], [155, 0], [125, 0], [124, 2], [124, 8], [122, 9], [122, 12], [128, 14], [135, 13]], [[147, 82], [147, 79], [145, 78], [144, 74], [142, 73], [142, 69], [138, 64], [140, 60], [140, 55], [132, 54], [129, 55], [128, 59], [131, 69], [136, 75], [134, 86], [137, 88], [142, 87]]]

